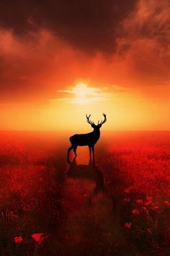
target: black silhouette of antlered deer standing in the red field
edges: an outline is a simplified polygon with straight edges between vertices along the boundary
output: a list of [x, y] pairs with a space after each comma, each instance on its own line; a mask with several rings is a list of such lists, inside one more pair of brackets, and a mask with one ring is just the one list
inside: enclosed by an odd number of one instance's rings
[[93, 153], [93, 159], [94, 159], [94, 145], [97, 143], [97, 140], [99, 140], [100, 137], [100, 128], [102, 127], [102, 124], [104, 124], [107, 121], [106, 115], [103, 113], [104, 120], [98, 121], [98, 124], [94, 124], [93, 121], [91, 121], [90, 118], [91, 115], [86, 115], [86, 121], [88, 124], [91, 124], [91, 127], [94, 129], [93, 132], [85, 133], [82, 135], [73, 135], [69, 138], [71, 142], [71, 147], [68, 148], [68, 161], [69, 161], [69, 155], [70, 151], [73, 150], [74, 154], [76, 155], [76, 149], [78, 146], [89, 146], [89, 153], [90, 153], [90, 159], [91, 159], [91, 149]]

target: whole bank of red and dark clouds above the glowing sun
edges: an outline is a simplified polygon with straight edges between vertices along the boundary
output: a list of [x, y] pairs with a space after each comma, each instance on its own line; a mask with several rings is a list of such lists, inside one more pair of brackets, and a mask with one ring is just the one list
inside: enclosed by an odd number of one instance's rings
[[1, 1], [0, 100], [47, 102], [77, 80], [167, 85], [169, 8], [168, 0]]

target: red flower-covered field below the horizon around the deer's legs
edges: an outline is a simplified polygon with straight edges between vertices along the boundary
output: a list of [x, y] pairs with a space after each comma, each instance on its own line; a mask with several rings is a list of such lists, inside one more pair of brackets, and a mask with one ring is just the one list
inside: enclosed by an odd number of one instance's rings
[[170, 132], [0, 135], [0, 255], [170, 255]]

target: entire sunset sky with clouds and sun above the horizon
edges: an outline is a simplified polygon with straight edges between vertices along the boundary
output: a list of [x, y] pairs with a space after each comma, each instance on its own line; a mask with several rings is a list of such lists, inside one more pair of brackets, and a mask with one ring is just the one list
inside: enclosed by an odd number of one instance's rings
[[1, 0], [0, 129], [170, 129], [169, 0]]

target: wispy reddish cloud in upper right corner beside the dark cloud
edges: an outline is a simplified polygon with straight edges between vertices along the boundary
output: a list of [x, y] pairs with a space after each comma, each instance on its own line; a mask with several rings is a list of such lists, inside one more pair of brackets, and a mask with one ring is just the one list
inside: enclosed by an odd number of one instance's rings
[[123, 20], [117, 53], [128, 58], [135, 77], [160, 84], [169, 80], [170, 3], [140, 0], [136, 12]]

